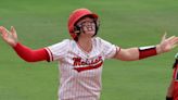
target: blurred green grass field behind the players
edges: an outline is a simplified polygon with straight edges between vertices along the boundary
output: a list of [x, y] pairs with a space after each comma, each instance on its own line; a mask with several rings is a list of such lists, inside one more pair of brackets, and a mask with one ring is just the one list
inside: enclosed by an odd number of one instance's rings
[[[156, 45], [166, 30], [178, 36], [176, 0], [1, 0], [0, 25], [15, 26], [18, 39], [37, 49], [69, 38], [67, 18], [88, 8], [101, 21], [99, 36], [123, 48]], [[101, 100], [164, 100], [171, 52], [136, 62], [107, 60]], [[0, 100], [56, 100], [58, 63], [27, 63], [0, 39]]]

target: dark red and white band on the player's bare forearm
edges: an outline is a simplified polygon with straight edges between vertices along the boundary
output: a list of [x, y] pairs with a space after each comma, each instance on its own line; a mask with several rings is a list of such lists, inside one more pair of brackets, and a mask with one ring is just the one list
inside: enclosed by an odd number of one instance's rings
[[139, 48], [139, 59], [144, 59], [144, 58], [156, 55], [156, 54], [157, 52], [156, 52], [155, 46]]

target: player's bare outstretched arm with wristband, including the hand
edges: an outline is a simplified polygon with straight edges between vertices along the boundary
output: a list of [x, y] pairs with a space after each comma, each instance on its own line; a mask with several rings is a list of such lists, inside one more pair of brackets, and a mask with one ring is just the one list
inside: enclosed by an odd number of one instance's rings
[[166, 38], [166, 34], [162, 37], [161, 43], [156, 46], [120, 49], [114, 59], [123, 61], [136, 61], [160, 53], [168, 52], [178, 45], [178, 37], [171, 36]]

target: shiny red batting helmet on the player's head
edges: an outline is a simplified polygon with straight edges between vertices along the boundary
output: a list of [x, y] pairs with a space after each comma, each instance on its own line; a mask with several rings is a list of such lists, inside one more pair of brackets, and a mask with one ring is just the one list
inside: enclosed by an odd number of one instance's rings
[[77, 9], [75, 10], [71, 15], [69, 15], [69, 18], [68, 18], [68, 32], [72, 36], [72, 38], [74, 40], [78, 40], [78, 35], [80, 34], [80, 27], [78, 27], [76, 25], [76, 23], [86, 17], [86, 16], [89, 16], [91, 18], [94, 20], [94, 24], [96, 24], [96, 34], [93, 36], [97, 35], [98, 33], [98, 29], [99, 29], [99, 20], [98, 20], [98, 15], [97, 14], [93, 14], [91, 11], [89, 11], [88, 9]]

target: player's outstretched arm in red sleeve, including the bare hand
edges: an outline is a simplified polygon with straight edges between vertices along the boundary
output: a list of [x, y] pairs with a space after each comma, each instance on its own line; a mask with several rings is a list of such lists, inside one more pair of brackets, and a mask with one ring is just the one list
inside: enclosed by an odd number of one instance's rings
[[26, 46], [23, 46], [17, 41], [17, 35], [15, 28], [12, 26], [9, 32], [5, 27], [0, 26], [0, 34], [2, 39], [8, 42], [15, 52], [27, 62], [37, 62], [37, 61], [49, 61], [49, 54], [44, 48], [33, 50]]

